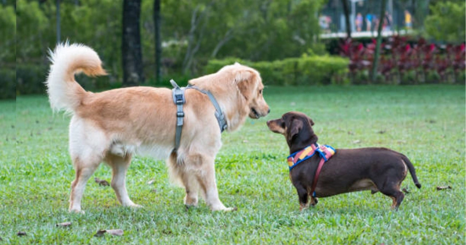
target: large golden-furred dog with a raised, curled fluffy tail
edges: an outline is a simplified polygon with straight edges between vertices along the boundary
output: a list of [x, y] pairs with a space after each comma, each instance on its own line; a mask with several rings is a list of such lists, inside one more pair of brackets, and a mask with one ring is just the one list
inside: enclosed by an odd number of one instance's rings
[[[46, 85], [51, 107], [72, 114], [69, 150], [76, 178], [71, 183], [70, 212], [82, 212], [86, 182], [101, 162], [112, 169], [111, 187], [118, 201], [139, 207], [129, 199], [125, 184], [131, 157], [139, 152], [167, 159], [172, 179], [185, 188], [187, 207], [197, 205], [200, 193], [211, 210], [233, 210], [218, 197], [214, 161], [222, 146], [221, 131], [207, 95], [186, 90], [181, 142], [175, 151], [177, 109], [170, 89], [129, 87], [92, 93], [85, 91], [74, 75], [106, 74], [93, 49], [60, 44], [50, 59]], [[247, 66], [228, 65], [189, 84], [213, 94], [225, 114], [228, 131], [237, 129], [248, 116], [257, 119], [270, 111], [262, 97], [259, 73]]]

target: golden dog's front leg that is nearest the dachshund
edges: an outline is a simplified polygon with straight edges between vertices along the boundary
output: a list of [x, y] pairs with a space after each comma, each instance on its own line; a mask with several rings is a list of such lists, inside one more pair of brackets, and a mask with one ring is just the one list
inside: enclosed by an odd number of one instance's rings
[[233, 211], [237, 208], [227, 208], [218, 198], [217, 184], [215, 182], [214, 158], [202, 157], [201, 172], [197, 175], [199, 185], [207, 205], [212, 211]]

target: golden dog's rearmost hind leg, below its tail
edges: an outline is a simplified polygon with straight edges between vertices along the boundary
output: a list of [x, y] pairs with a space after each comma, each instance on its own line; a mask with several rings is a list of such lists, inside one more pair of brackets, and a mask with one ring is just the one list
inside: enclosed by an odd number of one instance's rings
[[95, 160], [85, 164], [79, 158], [73, 159], [76, 178], [71, 182], [70, 212], [84, 213], [81, 211], [81, 198], [86, 187], [86, 183], [100, 164], [100, 160]]

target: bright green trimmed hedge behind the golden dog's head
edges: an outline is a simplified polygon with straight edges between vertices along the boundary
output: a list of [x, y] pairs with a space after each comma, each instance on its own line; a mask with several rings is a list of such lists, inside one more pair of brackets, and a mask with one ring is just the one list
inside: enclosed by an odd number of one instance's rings
[[272, 62], [252, 62], [237, 58], [208, 61], [204, 73], [215, 73], [225, 65], [239, 62], [259, 71], [264, 84], [267, 85], [322, 85], [346, 84], [347, 58], [337, 56], [303, 56], [287, 58]]

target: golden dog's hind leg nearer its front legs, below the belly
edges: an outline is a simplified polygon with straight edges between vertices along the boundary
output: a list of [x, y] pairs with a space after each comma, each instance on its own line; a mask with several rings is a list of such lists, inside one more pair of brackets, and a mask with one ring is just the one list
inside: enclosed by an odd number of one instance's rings
[[107, 154], [105, 162], [112, 168], [112, 181], [111, 187], [115, 191], [118, 201], [122, 206], [141, 207], [129, 199], [126, 190], [126, 173], [128, 172], [129, 164], [131, 163], [131, 154], [125, 156], [117, 156], [114, 154]]

